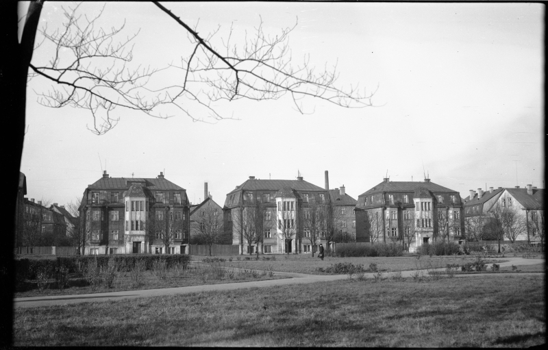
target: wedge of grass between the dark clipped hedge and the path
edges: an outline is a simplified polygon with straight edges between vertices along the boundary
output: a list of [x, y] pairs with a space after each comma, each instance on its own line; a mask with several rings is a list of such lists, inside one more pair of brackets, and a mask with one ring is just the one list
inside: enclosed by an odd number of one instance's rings
[[[240, 264], [243, 265], [243, 264]], [[158, 276], [153, 275], [152, 271], [145, 271], [142, 274], [142, 284], [138, 287], [132, 283], [132, 277], [130, 273], [116, 273], [116, 279], [112, 288], [105, 288], [104, 286], [98, 286], [92, 288], [89, 286], [82, 274], [71, 273], [69, 274], [69, 288], [60, 290], [57, 287], [57, 283], [54, 279], [50, 279], [49, 288], [40, 291], [36, 288], [36, 281], [28, 281], [19, 286], [16, 290], [14, 297], [38, 297], [44, 295], [77, 295], [77, 294], [89, 294], [89, 293], [102, 293], [102, 292], [117, 292], [121, 290], [138, 290], [138, 289], [153, 289], [153, 288], [172, 288], [172, 287], [186, 287], [186, 286], [199, 286], [203, 284], [222, 284], [232, 282], [251, 282], [251, 281], [264, 281], [266, 279], [279, 279], [286, 278], [282, 275], [272, 275], [269, 271], [262, 271], [253, 275], [250, 271], [238, 271], [236, 268], [232, 268], [228, 271], [221, 269], [221, 264], [203, 264], [197, 266], [191, 266], [186, 270], [175, 273], [175, 271], [169, 271], [166, 278], [160, 279]]]

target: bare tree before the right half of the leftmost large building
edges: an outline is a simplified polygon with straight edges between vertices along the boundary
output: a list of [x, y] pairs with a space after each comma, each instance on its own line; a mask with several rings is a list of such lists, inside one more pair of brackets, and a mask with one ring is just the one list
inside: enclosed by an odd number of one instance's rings
[[157, 209], [149, 212], [147, 220], [142, 221], [140, 225], [143, 225], [149, 242], [160, 240], [166, 248], [164, 253], [168, 253], [169, 246], [173, 244], [173, 241], [182, 238], [184, 231], [183, 212], [169, 207]]

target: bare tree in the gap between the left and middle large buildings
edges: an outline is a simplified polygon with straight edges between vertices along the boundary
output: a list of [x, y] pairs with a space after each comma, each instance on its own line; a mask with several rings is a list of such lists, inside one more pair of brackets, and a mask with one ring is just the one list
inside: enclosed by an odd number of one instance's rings
[[211, 256], [212, 245], [223, 242], [225, 238], [223, 214], [208, 205], [200, 212], [192, 224], [192, 235], [201, 244], [208, 245]]

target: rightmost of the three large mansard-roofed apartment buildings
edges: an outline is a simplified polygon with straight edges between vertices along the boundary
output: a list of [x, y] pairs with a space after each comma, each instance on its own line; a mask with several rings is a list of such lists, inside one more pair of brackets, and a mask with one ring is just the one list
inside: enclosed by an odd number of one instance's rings
[[409, 251], [433, 240], [462, 243], [462, 202], [456, 190], [430, 179], [390, 182], [388, 178], [358, 197], [357, 242], [399, 242]]

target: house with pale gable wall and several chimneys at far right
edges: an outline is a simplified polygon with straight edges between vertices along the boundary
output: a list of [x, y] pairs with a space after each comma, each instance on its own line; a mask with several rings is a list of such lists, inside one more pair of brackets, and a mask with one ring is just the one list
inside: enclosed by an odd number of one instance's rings
[[[478, 188], [470, 190], [464, 198], [464, 216], [467, 229], [473, 231], [477, 225], [487, 223], [495, 210], [515, 212], [511, 220], [512, 231], [506, 232], [505, 238], [527, 242], [540, 242], [544, 237], [544, 195], [543, 188], [527, 185], [526, 188], [490, 187], [488, 191]], [[474, 220], [481, 218], [481, 220]], [[508, 221], [508, 220], [507, 220]], [[508, 224], [507, 224], [508, 225]]]

